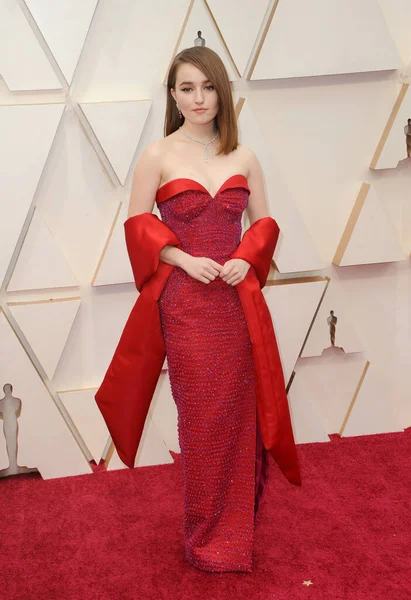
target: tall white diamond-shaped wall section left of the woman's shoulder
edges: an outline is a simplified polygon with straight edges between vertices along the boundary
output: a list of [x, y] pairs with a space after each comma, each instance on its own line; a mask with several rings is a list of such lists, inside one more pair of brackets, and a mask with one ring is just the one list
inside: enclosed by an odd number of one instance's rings
[[80, 285], [93, 277], [124, 193], [107, 177], [75, 112], [67, 110], [36, 206]]

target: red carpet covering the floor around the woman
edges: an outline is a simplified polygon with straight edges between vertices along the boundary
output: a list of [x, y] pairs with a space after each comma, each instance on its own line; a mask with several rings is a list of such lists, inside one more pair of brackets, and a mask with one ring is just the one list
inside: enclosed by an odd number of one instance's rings
[[0, 480], [0, 598], [409, 600], [411, 428], [331, 439], [298, 446], [301, 488], [271, 461], [251, 574], [184, 561], [179, 455]]

